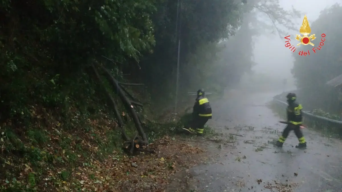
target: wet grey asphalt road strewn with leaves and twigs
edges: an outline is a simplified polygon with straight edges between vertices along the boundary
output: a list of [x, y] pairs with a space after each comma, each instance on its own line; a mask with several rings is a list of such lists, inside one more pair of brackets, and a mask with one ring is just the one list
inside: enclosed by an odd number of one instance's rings
[[[276, 94], [279, 92], [244, 94], [236, 91], [212, 103], [213, 119], [209, 125], [221, 133], [237, 134], [229, 136], [236, 142], [221, 147], [219, 143], [212, 144], [211, 151], [220, 155], [212, 163], [190, 169], [192, 189], [197, 192], [342, 191], [340, 140], [304, 129], [308, 144], [305, 150], [294, 148], [298, 140], [293, 132], [281, 149], [268, 143], [277, 139], [285, 127], [267, 107], [267, 102]], [[258, 179], [262, 180], [260, 184]], [[288, 183], [292, 188], [265, 189], [267, 183], [274, 186]]]

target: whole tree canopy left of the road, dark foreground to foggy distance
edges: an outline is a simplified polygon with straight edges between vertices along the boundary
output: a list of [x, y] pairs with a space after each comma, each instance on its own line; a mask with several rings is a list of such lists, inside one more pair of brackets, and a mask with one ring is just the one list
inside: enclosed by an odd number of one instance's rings
[[84, 109], [99, 105], [90, 102], [101, 97], [89, 73], [93, 62], [107, 63], [119, 80], [129, 73], [129, 80], [145, 82], [151, 93], [174, 92], [176, 28], [183, 90], [225, 87], [252, 66], [252, 36], [261, 24], [269, 26], [255, 20], [258, 14], [271, 18], [271, 26], [287, 28], [288, 16], [295, 15], [277, 0], [180, 2], [177, 16], [175, 0], [2, 1], [2, 113], [21, 116], [34, 104], [67, 110], [76, 100]]

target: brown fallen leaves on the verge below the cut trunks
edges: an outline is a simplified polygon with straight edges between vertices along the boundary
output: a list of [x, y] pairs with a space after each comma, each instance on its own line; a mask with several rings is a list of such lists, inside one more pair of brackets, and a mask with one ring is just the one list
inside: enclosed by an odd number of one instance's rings
[[[165, 142], [169, 145], [158, 145]], [[205, 152], [189, 142], [168, 137], [159, 139], [151, 146], [158, 151], [157, 154], [123, 156], [120, 161], [113, 158], [104, 162], [94, 161], [92, 168], [78, 167], [71, 175], [74, 180], [61, 185], [61, 188], [69, 187], [70, 183], [80, 183], [82, 191], [162, 192], [170, 176], [184, 166], [198, 164], [199, 155]]]

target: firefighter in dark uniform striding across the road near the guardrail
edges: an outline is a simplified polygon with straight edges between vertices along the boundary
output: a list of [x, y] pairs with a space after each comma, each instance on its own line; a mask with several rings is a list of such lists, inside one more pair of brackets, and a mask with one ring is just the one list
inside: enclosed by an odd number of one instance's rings
[[303, 107], [301, 104], [298, 104], [295, 101], [297, 98], [294, 93], [287, 94], [286, 98], [289, 104], [287, 106], [287, 121], [289, 122], [289, 124], [285, 127], [284, 131], [282, 132], [282, 135], [279, 137], [276, 146], [282, 147], [290, 131], [293, 130], [299, 141], [299, 145], [297, 145], [296, 148], [306, 148], [306, 141], [300, 129], [300, 126], [303, 124]]

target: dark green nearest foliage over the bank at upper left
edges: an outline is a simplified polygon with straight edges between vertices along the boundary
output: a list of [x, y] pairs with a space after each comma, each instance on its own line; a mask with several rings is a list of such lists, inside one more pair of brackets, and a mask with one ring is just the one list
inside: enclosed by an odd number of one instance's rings
[[2, 120], [27, 124], [35, 105], [57, 108], [67, 116], [75, 100], [76, 107], [86, 112], [96, 90], [89, 78], [89, 62], [101, 55], [119, 63], [126, 58], [138, 60], [150, 51], [155, 44], [150, 19], [154, 3], [2, 1]]

